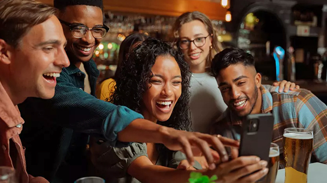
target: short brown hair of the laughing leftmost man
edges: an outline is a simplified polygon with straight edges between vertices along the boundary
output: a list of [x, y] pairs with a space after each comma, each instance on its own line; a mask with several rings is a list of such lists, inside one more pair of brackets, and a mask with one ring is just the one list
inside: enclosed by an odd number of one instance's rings
[[0, 39], [16, 47], [33, 26], [56, 13], [56, 8], [35, 0], [0, 0]]

